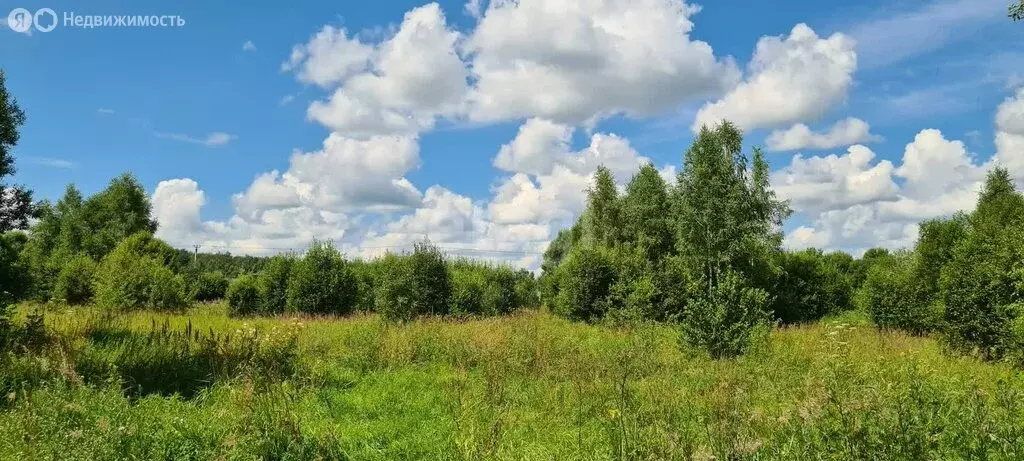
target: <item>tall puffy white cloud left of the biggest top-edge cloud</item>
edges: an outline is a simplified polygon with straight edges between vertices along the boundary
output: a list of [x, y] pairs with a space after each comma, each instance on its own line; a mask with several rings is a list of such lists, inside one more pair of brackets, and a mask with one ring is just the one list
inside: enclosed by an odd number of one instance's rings
[[[329, 38], [322, 40], [325, 33]], [[407, 12], [394, 36], [373, 47], [345, 35], [326, 28], [286, 62], [300, 80], [339, 85], [330, 98], [309, 106], [310, 119], [346, 136], [413, 135], [461, 110], [468, 76], [456, 52], [461, 34], [436, 3]]]

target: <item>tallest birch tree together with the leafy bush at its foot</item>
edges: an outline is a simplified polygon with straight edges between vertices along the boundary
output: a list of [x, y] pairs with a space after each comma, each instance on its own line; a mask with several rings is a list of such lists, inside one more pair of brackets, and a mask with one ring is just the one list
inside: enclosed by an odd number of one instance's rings
[[[755, 150], [748, 174], [741, 139], [728, 122], [701, 128], [677, 185], [677, 245], [691, 284], [683, 338], [716, 357], [741, 351], [757, 322], [767, 319], [769, 295], [760, 287], [774, 279], [773, 255], [790, 214], [768, 184], [761, 151]], [[699, 333], [707, 328], [713, 331]]]

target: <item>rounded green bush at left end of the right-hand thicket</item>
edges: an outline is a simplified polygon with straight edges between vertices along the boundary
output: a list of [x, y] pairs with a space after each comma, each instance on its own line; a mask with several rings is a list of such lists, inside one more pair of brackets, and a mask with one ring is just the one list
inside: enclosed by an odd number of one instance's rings
[[877, 260], [858, 296], [871, 320], [881, 328], [896, 328], [923, 335], [941, 322], [941, 307], [921, 296], [914, 281], [914, 260], [909, 254]]

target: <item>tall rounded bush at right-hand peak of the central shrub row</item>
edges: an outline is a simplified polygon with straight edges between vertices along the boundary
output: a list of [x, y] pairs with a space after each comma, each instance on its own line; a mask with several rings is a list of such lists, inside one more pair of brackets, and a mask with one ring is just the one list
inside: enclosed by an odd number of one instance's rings
[[387, 320], [409, 321], [451, 312], [452, 276], [436, 247], [417, 243], [407, 256], [385, 256], [377, 280], [377, 311]]

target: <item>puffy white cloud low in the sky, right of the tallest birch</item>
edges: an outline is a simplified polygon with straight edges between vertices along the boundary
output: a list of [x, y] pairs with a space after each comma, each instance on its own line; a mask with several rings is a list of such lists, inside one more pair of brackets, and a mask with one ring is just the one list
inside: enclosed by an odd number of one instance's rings
[[790, 232], [785, 244], [851, 251], [909, 246], [922, 220], [973, 209], [990, 166], [935, 129], [906, 144], [898, 167], [874, 162], [863, 145], [843, 156], [798, 155], [772, 174], [779, 196], [810, 220]]

